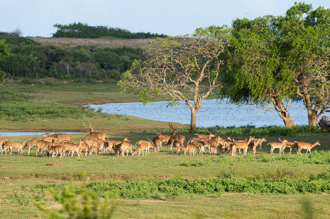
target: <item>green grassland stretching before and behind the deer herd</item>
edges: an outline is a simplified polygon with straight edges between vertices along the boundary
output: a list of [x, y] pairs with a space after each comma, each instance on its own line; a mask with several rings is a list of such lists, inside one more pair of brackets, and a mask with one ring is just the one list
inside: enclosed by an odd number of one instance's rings
[[[128, 137], [133, 145], [138, 140], [147, 140], [155, 136], [154, 131], [170, 132], [168, 123], [146, 120], [138, 117], [110, 115], [102, 112], [93, 112], [88, 107], [78, 106], [90, 103], [131, 102], [137, 101], [134, 94], [118, 96], [118, 88], [114, 83], [96, 81], [92, 83], [59, 81], [41, 79], [38, 81], [13, 80], [6, 81], [0, 87], [0, 118], [1, 130], [25, 131], [82, 131], [71, 134], [73, 141], [78, 142], [88, 134], [82, 120], [90, 120], [96, 131], [104, 131], [109, 139], [121, 140]], [[7, 92], [8, 90], [8, 92]], [[2, 92], [2, 93], [1, 93]], [[211, 96], [215, 97], [215, 96]], [[51, 110], [49, 110], [51, 108]], [[173, 123], [178, 127], [179, 134], [187, 139], [195, 137], [188, 132], [188, 125]], [[203, 128], [198, 132], [206, 133]], [[270, 147], [263, 143], [262, 150], [257, 149], [253, 156], [237, 155], [231, 157], [210, 154], [196, 154], [187, 156], [172, 153], [164, 147], [157, 154], [150, 150], [147, 156], [129, 155], [117, 157], [115, 154], [102, 154], [95, 156], [74, 157], [66, 156], [51, 158], [47, 156], [36, 157], [36, 149], [32, 148], [30, 154], [27, 150], [18, 155], [13, 149], [13, 155], [0, 156], [0, 213], [2, 218], [31, 218], [38, 214], [47, 218], [33, 201], [37, 201], [48, 209], [61, 209], [48, 190], [35, 189], [47, 187], [52, 184], [60, 186], [67, 184], [71, 179], [79, 184], [82, 173], [87, 174], [88, 183], [95, 180], [115, 183], [125, 183], [128, 180], [209, 180], [235, 178], [246, 180], [251, 185], [260, 180], [270, 182], [283, 179], [285, 185], [290, 180], [306, 180], [329, 173], [330, 164], [330, 135], [321, 130], [312, 130], [308, 127], [285, 129], [280, 127], [253, 128], [232, 127], [219, 128], [222, 138], [230, 135], [234, 139], [243, 139], [249, 135], [263, 136], [265, 132], [272, 136], [267, 142], [278, 138], [287, 138], [289, 141], [316, 142], [321, 146], [312, 149], [312, 154], [297, 155], [295, 150], [288, 154], [270, 154]], [[6, 136], [0, 137], [5, 138]], [[30, 140], [42, 136], [7, 136], [13, 141], [21, 142], [23, 138]], [[133, 148], [133, 150], [136, 147]], [[46, 166], [49, 162], [63, 164], [59, 166]], [[2, 166], [3, 165], [3, 166]], [[323, 174], [323, 175], [322, 175]], [[328, 176], [328, 175], [326, 175]], [[288, 180], [288, 181], [285, 181]], [[328, 179], [326, 179], [328, 180]], [[97, 181], [95, 181], [97, 182]], [[317, 182], [317, 180], [316, 180]], [[275, 183], [275, 182], [274, 182]], [[323, 182], [324, 183], [324, 182]], [[143, 184], [143, 183], [142, 183]], [[141, 185], [142, 185], [141, 184]], [[329, 185], [328, 185], [329, 184]], [[156, 195], [141, 195], [146, 185], [132, 188], [133, 193], [140, 194], [138, 198], [120, 194], [115, 209], [115, 218], [330, 218], [330, 195], [328, 189], [330, 182], [322, 187], [315, 184], [315, 189], [324, 188], [325, 192], [303, 194], [283, 191], [260, 193], [238, 190], [241, 192], [206, 192], [205, 194], [186, 193], [182, 190], [175, 198], [169, 198], [165, 191]], [[275, 184], [274, 184], [275, 185]], [[278, 185], [278, 184], [276, 184]], [[243, 185], [242, 185], [243, 186]], [[175, 185], [173, 185], [175, 187]], [[200, 191], [205, 185], [196, 184]], [[122, 188], [121, 188], [122, 189]], [[169, 188], [170, 189], [170, 188]], [[281, 189], [280, 189], [281, 190]], [[233, 190], [236, 191], [236, 190]], [[291, 191], [291, 192], [290, 192]], [[103, 198], [103, 193], [94, 191]], [[278, 194], [279, 193], [279, 194]], [[135, 194], [136, 195], [136, 194]], [[307, 216], [306, 216], [307, 215]]]

